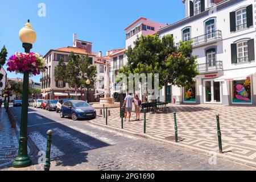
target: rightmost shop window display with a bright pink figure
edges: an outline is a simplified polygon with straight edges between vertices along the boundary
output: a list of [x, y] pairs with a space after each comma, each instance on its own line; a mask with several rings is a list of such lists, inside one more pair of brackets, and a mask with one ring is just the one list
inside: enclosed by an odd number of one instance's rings
[[233, 103], [251, 103], [251, 80], [233, 81]]

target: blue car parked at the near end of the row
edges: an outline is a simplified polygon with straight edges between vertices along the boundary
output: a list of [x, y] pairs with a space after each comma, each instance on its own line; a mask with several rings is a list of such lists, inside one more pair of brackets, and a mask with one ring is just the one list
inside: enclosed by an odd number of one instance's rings
[[96, 110], [85, 101], [65, 101], [60, 109], [60, 117], [71, 117], [77, 119], [95, 119]]

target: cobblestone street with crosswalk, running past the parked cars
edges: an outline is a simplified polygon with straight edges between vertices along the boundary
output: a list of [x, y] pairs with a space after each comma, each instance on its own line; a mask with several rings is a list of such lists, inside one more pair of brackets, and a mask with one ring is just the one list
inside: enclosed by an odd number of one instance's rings
[[[11, 110], [19, 120], [20, 110]], [[208, 152], [196, 152], [174, 144], [119, 133], [87, 121], [73, 122], [69, 118], [60, 118], [55, 112], [30, 109], [28, 133], [34, 165], [22, 169], [14, 169], [9, 165], [2, 170], [43, 170], [43, 165], [38, 164], [38, 152], [46, 150], [48, 129], [53, 130], [51, 170], [255, 169], [218, 157], [214, 164], [214, 158]]]

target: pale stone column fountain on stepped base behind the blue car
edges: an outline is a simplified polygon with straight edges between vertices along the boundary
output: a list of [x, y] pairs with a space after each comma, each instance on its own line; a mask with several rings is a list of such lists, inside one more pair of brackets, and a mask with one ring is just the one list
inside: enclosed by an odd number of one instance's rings
[[94, 108], [103, 108], [103, 105], [108, 108], [119, 107], [119, 104], [115, 104], [115, 99], [110, 97], [109, 73], [110, 63], [107, 62], [104, 79], [104, 98], [100, 98], [100, 104], [94, 104]]

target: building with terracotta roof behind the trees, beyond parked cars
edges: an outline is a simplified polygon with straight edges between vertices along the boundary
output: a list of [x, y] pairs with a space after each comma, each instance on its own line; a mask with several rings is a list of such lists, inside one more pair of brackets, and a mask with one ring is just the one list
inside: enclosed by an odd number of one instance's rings
[[[41, 78], [41, 86], [42, 86], [42, 95], [44, 99], [48, 100], [57, 100], [60, 98], [75, 98], [76, 96], [79, 99], [84, 99], [86, 97], [86, 93], [82, 93], [77, 91], [75, 92], [75, 88], [69, 88], [69, 85], [65, 83], [63, 80], [55, 81], [54, 77], [54, 69], [59, 64], [59, 60], [63, 59], [65, 64], [68, 64], [68, 56], [73, 52], [75, 55], [88, 55], [90, 64], [97, 65], [97, 69], [99, 70], [99, 74], [97, 75], [100, 78], [100, 65], [104, 65], [104, 61], [106, 62], [106, 57], [102, 57], [99, 53], [92, 52], [92, 43], [85, 42], [82, 40], [77, 40], [77, 35], [73, 35], [73, 47], [63, 47], [59, 49], [51, 49], [49, 50], [44, 58], [46, 59], [46, 65], [48, 67], [46, 73], [42, 73]], [[89, 101], [95, 101], [95, 93], [96, 90], [89, 90]]]

